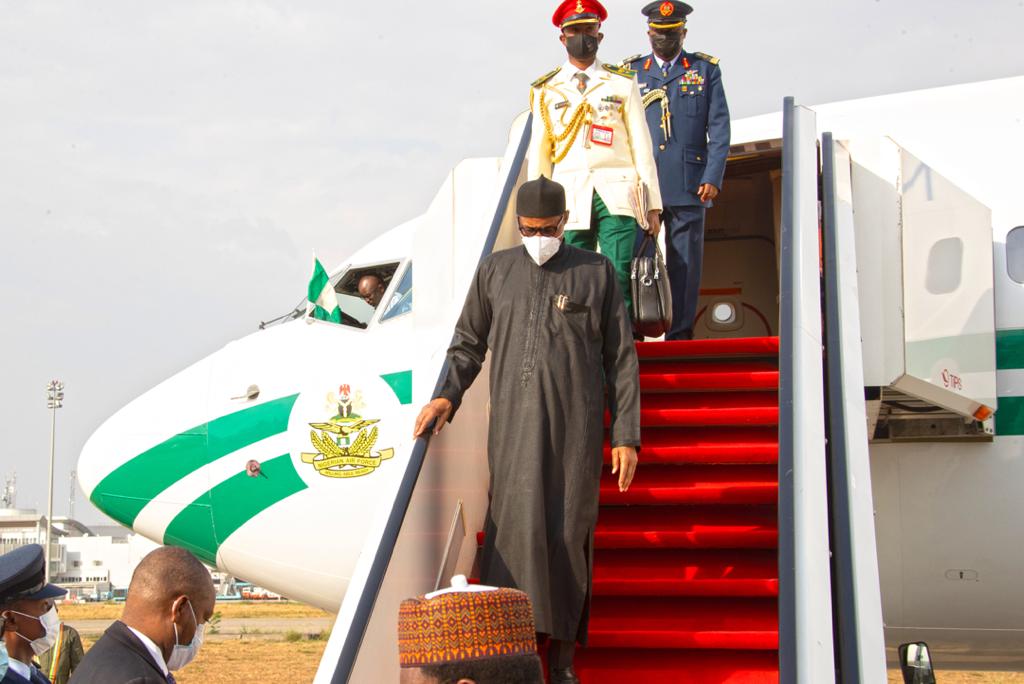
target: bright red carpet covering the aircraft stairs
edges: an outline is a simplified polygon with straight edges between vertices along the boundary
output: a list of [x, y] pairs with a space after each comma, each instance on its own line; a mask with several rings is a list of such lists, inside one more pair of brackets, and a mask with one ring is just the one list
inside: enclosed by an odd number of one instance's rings
[[[778, 681], [778, 339], [637, 345], [643, 450], [601, 486], [584, 684]], [[610, 448], [605, 448], [610, 462]]]

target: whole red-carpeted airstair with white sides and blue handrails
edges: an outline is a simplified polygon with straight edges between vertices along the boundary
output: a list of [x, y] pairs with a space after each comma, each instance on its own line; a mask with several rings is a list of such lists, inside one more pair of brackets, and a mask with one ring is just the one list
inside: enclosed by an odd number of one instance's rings
[[[777, 333], [638, 345], [641, 466], [628, 494], [601, 488], [586, 684], [885, 681], [852, 209], [814, 113], [787, 99], [783, 129], [775, 159], [755, 160], [778, 166]], [[528, 135], [510, 146], [484, 255]], [[464, 424], [485, 400], [467, 397]], [[482, 517], [439, 484], [451, 473], [429, 448], [414, 450], [316, 682], [396, 679], [400, 599], [470, 571], [463, 540]], [[429, 581], [414, 558], [436, 563]]]

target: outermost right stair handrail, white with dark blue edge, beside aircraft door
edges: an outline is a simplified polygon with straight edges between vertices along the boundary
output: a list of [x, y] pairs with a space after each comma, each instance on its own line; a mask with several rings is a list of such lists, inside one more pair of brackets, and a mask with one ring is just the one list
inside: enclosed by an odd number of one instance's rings
[[[845, 684], [870, 684], [886, 681], [886, 645], [864, 421], [857, 244], [852, 197], [847, 197], [845, 189], [850, 186], [849, 157], [837, 146], [831, 133], [824, 133], [821, 140], [821, 222], [825, 379], [839, 672]], [[842, 195], [840, 187], [844, 188]]]

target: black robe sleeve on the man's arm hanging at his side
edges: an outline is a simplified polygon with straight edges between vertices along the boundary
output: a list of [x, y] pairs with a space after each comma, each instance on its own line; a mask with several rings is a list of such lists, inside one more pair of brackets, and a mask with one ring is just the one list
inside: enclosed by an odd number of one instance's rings
[[601, 333], [604, 378], [611, 413], [611, 445], [640, 446], [640, 368], [630, 316], [615, 283], [611, 262], [605, 266], [604, 310]]

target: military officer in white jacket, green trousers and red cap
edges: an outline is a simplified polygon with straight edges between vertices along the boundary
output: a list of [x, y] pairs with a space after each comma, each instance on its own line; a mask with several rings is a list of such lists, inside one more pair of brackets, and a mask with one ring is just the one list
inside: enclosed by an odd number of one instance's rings
[[597, 0], [566, 0], [555, 10], [552, 23], [568, 60], [532, 84], [528, 177], [544, 175], [565, 187], [565, 242], [600, 247], [632, 312], [629, 270], [638, 223], [630, 196], [638, 181], [646, 185], [648, 229], [656, 234], [662, 195], [634, 73], [597, 58], [607, 14]]

